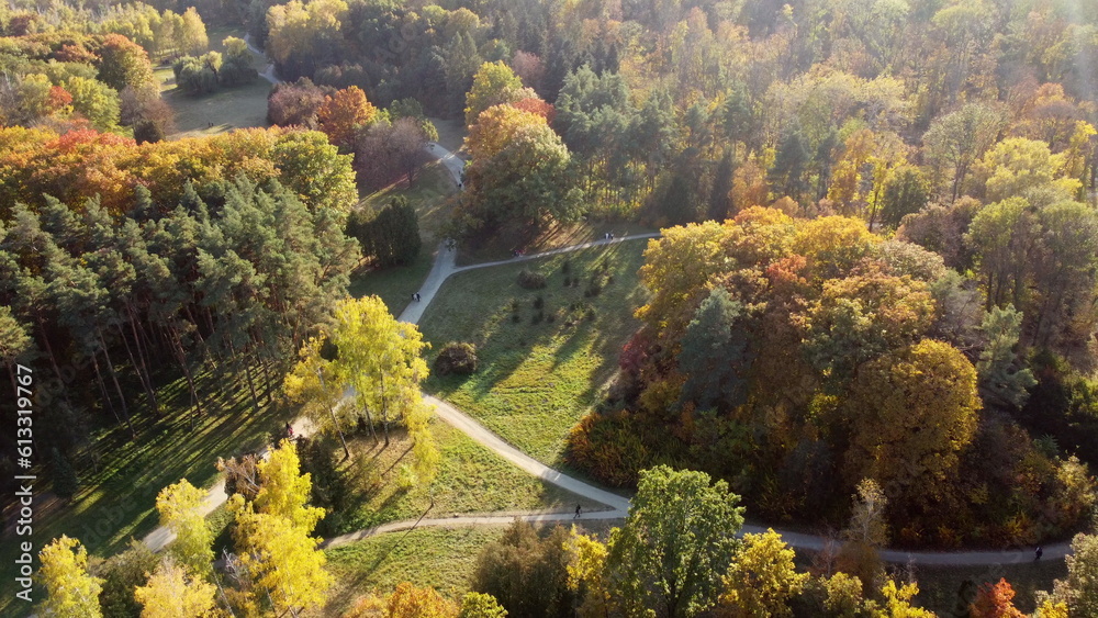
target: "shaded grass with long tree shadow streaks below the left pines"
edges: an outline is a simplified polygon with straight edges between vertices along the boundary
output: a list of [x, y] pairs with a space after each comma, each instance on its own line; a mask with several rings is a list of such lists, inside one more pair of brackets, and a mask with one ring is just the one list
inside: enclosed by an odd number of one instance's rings
[[[212, 485], [219, 475], [214, 465], [219, 457], [259, 448], [289, 418], [287, 411], [271, 406], [255, 413], [243, 379], [233, 383], [201, 375], [198, 381], [205, 416], [193, 419], [190, 394], [180, 378], [158, 393], [164, 412], [159, 420], [147, 413], [134, 417], [136, 442], [127, 441], [127, 435], [116, 428], [94, 435], [75, 461], [80, 490], [70, 503], [53, 498], [48, 482], [38, 481], [35, 550], [63, 533], [100, 557], [125, 549], [131, 538], [141, 539], [156, 528], [156, 494], [163, 487], [180, 479], [198, 487]], [[3, 543], [0, 560], [11, 564], [13, 551], [14, 543]], [[13, 596], [13, 584], [10, 578], [3, 581], [0, 611]]]

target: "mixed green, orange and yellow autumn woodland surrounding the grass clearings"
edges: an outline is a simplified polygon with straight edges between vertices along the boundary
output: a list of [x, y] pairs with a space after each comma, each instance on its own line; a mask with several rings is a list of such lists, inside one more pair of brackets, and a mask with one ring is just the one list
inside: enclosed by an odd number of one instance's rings
[[[154, 63], [193, 95], [256, 79], [243, 40], [209, 50], [214, 20], [246, 30], [285, 80], [268, 99], [277, 126], [166, 142]], [[468, 128], [446, 227], [468, 245], [593, 221], [664, 228], [641, 271], [643, 326], [569, 440], [573, 464], [639, 485], [635, 512], [605, 544], [508, 531], [474, 588], [514, 615], [535, 615], [522, 604], [541, 595], [545, 615], [922, 616], [875, 548], [1019, 547], [1089, 523], [1096, 3], [16, 1], [0, 29], [0, 351], [10, 377], [40, 368], [51, 405], [36, 437], [56, 449], [63, 493], [96, 429], [139, 439], [134, 418], [160, 414], [165, 383], [182, 379], [208, 414], [200, 374], [238, 380], [256, 408], [285, 391], [336, 432], [354, 419], [320, 405], [333, 386], [400, 375], [395, 398], [381, 387], [359, 407], [383, 429], [391, 416], [429, 434], [408, 403], [419, 348], [347, 369], [383, 339], [352, 326], [391, 316], [336, 301], [363, 256], [418, 251], [406, 203], [355, 205], [360, 189], [415, 180], [430, 115]], [[417, 460], [437, 457], [417, 446]], [[258, 561], [255, 577], [213, 600], [201, 496], [173, 485], [163, 520], [194, 536], [175, 562], [144, 559], [152, 580], [116, 577], [124, 615], [190, 598], [165, 589], [201, 596], [186, 615], [323, 603], [330, 581], [310, 537], [322, 514], [283, 452], [272, 468], [227, 464], [244, 561], [228, 569]], [[697, 504], [672, 499], [687, 494]], [[737, 495], [752, 516], [843, 528], [845, 553], [809, 577], [778, 539], [732, 541]], [[707, 514], [704, 547], [652, 532], [685, 512]], [[1094, 613], [1094, 538], [1076, 544], [1042, 616]], [[669, 547], [687, 562], [682, 581], [650, 560]], [[78, 544], [47, 549], [51, 599], [101, 597]], [[283, 559], [299, 580], [279, 578]], [[762, 591], [760, 574], [778, 583]], [[1001, 584], [974, 615], [1018, 615]], [[437, 596], [397, 588], [352, 615]], [[432, 611], [498, 616], [494, 603], [439, 598]]]

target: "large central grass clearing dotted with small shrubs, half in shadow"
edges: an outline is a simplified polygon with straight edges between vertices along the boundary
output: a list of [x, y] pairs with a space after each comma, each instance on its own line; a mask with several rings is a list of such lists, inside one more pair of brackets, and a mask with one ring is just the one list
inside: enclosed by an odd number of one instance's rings
[[[637, 274], [646, 246], [638, 240], [594, 247], [453, 276], [421, 329], [435, 350], [447, 341], [477, 345], [480, 369], [469, 378], [433, 375], [425, 387], [531, 457], [558, 463], [568, 430], [597, 403], [621, 345], [639, 326], [632, 314], [647, 300]], [[563, 285], [565, 260], [567, 277], [579, 278], [579, 286]], [[546, 289], [519, 288], [516, 278], [524, 268], [546, 274]], [[585, 297], [593, 274], [604, 280], [613, 276], [613, 283]], [[552, 316], [552, 323], [533, 322], [539, 295], [542, 314]], [[513, 322], [513, 302], [518, 303], [518, 323]]]

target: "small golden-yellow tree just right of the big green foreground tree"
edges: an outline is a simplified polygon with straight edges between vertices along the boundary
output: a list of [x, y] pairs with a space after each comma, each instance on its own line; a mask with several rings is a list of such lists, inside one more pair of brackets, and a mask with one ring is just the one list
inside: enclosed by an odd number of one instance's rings
[[807, 573], [797, 573], [794, 552], [773, 529], [744, 535], [724, 577], [718, 613], [725, 616], [792, 616], [789, 599], [800, 593]]

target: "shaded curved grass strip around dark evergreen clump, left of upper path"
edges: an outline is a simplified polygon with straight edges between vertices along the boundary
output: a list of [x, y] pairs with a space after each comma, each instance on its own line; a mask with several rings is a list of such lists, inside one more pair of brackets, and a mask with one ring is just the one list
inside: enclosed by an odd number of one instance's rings
[[377, 294], [393, 315], [400, 315], [404, 311], [412, 293], [419, 289], [430, 272], [433, 254], [441, 240], [439, 229], [450, 217], [451, 204], [447, 198], [455, 189], [450, 173], [440, 162], [435, 161], [424, 167], [412, 187], [399, 182], [362, 199], [360, 207], [382, 209], [393, 198], [407, 198], [419, 215], [423, 249], [415, 261], [407, 266], [356, 272], [350, 283], [352, 296]]

